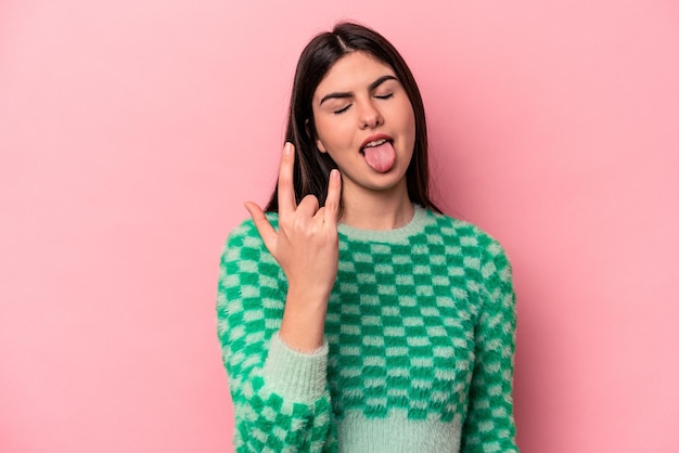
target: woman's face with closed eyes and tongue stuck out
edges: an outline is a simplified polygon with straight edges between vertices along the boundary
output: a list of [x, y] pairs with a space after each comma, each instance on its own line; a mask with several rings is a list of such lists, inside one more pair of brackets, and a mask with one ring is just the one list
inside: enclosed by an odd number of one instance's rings
[[348, 53], [321, 80], [312, 103], [317, 146], [337, 164], [344, 193], [406, 189], [415, 118], [390, 66], [366, 52]]

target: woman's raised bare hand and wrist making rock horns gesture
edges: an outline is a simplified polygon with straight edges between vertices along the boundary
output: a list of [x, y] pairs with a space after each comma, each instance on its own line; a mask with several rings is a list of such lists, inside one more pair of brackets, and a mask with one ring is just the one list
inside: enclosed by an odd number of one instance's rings
[[266, 247], [287, 277], [289, 289], [280, 336], [292, 348], [311, 351], [323, 342], [328, 299], [337, 277], [337, 212], [342, 181], [332, 170], [325, 206], [305, 196], [295, 202], [292, 143], [285, 143], [278, 180], [279, 230], [255, 203], [245, 203]]

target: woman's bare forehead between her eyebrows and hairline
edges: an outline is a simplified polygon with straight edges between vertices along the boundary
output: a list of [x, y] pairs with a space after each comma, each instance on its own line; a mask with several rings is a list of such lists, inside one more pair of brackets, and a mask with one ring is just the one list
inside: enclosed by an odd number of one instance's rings
[[316, 88], [313, 98], [331, 92], [349, 92], [366, 89], [377, 78], [396, 76], [392, 67], [367, 52], [347, 53], [330, 67], [325, 77]]

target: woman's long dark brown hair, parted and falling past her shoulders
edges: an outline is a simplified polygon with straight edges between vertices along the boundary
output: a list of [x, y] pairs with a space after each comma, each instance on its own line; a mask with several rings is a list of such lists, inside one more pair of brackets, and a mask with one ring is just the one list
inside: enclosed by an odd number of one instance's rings
[[[316, 125], [311, 101], [319, 83], [333, 64], [349, 52], [367, 52], [389, 65], [403, 87], [415, 118], [415, 143], [410, 165], [406, 170], [410, 200], [437, 212], [440, 209], [430, 199], [428, 150], [426, 119], [422, 95], [412, 73], [398, 51], [382, 35], [354, 23], [340, 23], [332, 31], [317, 35], [302, 51], [287, 118], [285, 141], [295, 145], [293, 169], [297, 203], [312, 194], [320, 206], [325, 204], [330, 170], [337, 168], [328, 153], [316, 146]], [[278, 186], [273, 190], [266, 207], [268, 212], [278, 212]]]

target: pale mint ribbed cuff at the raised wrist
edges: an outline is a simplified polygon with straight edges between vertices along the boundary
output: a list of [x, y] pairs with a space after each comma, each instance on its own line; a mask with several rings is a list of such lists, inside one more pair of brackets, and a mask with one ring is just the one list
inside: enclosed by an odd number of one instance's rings
[[262, 370], [267, 387], [284, 399], [311, 403], [323, 396], [328, 380], [328, 342], [311, 353], [291, 349], [271, 337]]

